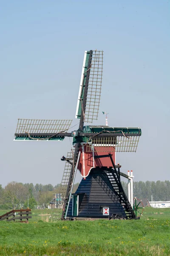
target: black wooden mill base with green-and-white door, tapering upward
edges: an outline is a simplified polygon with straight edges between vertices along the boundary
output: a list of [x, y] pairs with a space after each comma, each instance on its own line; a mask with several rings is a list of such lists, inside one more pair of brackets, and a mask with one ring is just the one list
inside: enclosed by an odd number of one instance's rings
[[[109, 215], [103, 215], [103, 208], [109, 208]], [[118, 172], [113, 168], [94, 168], [73, 194], [67, 217], [131, 219], [136, 215], [122, 188]]]

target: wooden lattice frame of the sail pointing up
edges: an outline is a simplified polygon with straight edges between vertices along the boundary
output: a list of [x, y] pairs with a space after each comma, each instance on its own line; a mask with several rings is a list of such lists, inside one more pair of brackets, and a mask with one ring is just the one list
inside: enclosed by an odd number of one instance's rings
[[102, 90], [103, 51], [93, 51], [85, 108], [85, 121], [97, 120]]

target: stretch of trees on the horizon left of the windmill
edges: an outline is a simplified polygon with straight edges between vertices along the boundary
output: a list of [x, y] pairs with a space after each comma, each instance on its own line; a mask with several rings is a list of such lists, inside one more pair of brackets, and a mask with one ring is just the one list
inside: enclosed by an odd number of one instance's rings
[[[79, 183], [74, 184], [73, 192], [76, 191]], [[0, 209], [18, 209], [23, 205], [24, 208], [47, 208], [49, 203], [59, 193], [59, 186], [51, 184], [42, 185], [33, 183], [19, 183], [12, 181], [5, 188], [0, 185]]]

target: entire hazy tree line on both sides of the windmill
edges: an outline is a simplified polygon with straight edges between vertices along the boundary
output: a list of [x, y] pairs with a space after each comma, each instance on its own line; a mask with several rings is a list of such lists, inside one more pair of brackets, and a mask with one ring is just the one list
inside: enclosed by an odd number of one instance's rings
[[[49, 203], [55, 197], [55, 193], [59, 193], [59, 186], [51, 184], [42, 185], [33, 183], [18, 183], [12, 181], [4, 188], [0, 185], [0, 209], [17, 209], [23, 205], [27, 208], [39, 206], [40, 208], [47, 208]], [[74, 184], [73, 193], [77, 190], [79, 183]], [[122, 186], [128, 195], [127, 183], [122, 181]], [[170, 181], [134, 181], [133, 195], [139, 199], [147, 198], [151, 201], [170, 201]]]

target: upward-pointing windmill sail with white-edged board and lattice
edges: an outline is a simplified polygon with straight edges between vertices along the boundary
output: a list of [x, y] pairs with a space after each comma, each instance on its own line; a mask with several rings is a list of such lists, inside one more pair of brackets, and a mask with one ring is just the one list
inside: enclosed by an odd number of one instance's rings
[[[83, 114], [86, 122], [93, 122], [94, 119], [97, 120], [99, 113], [102, 89], [103, 51], [92, 51], [90, 68], [88, 68], [88, 61], [90, 58], [89, 56], [90, 51], [85, 51], [77, 101], [76, 118], [80, 119], [82, 113], [82, 102], [84, 97], [85, 84], [87, 84], [87, 97], [85, 101], [85, 109], [83, 109]], [[90, 71], [88, 81], [87, 71]]]

